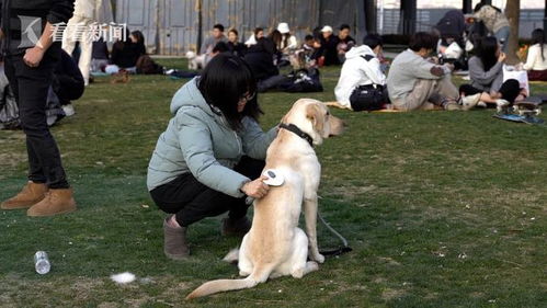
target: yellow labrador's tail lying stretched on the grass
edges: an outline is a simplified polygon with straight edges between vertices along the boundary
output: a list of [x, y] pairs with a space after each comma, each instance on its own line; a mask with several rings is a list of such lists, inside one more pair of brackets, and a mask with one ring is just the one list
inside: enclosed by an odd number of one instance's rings
[[186, 299], [207, 296], [219, 292], [254, 287], [259, 283], [265, 282], [270, 276], [272, 270], [273, 266], [261, 266], [260, 269], [259, 266], [255, 266], [252, 274], [244, 280], [218, 280], [206, 282], [198, 288], [194, 289], [189, 296], [186, 296]]

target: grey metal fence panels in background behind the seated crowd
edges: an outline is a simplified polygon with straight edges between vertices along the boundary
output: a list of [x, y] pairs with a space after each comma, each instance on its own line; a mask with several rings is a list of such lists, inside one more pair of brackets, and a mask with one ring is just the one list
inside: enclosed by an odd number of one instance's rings
[[[216, 23], [239, 31], [244, 41], [254, 27], [273, 30], [287, 22], [293, 34], [303, 39], [316, 26], [333, 28], [342, 23], [352, 26], [353, 35], [363, 37], [364, 1], [347, 0], [115, 0], [116, 22], [140, 30], [148, 52], [184, 55], [197, 50]], [[451, 9], [419, 9], [417, 31], [429, 31]], [[521, 11], [521, 37], [543, 25], [543, 10]], [[378, 12], [378, 30], [380, 24]], [[384, 10], [383, 34], [401, 33], [399, 9]]]

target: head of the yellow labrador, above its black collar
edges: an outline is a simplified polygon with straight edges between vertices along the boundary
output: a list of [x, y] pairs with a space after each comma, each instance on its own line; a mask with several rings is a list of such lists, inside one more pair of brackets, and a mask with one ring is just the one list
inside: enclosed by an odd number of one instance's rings
[[314, 145], [321, 145], [324, 138], [338, 136], [344, 130], [344, 122], [333, 116], [320, 101], [300, 99], [283, 117], [283, 123], [294, 124], [311, 136]]

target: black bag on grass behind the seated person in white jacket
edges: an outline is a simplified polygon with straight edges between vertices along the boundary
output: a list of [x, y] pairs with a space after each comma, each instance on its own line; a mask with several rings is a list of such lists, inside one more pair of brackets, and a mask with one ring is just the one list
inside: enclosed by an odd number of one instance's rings
[[380, 84], [360, 85], [350, 95], [353, 111], [375, 111], [388, 103], [387, 91]]

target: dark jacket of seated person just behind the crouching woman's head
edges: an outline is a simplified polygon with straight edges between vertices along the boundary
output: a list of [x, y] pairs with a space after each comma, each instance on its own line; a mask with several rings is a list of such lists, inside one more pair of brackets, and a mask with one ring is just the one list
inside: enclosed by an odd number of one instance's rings
[[257, 44], [249, 47], [243, 60], [251, 67], [257, 80], [264, 80], [280, 75], [280, 70], [273, 64], [275, 44], [269, 38], [260, 38]]

